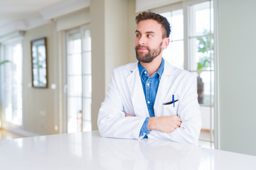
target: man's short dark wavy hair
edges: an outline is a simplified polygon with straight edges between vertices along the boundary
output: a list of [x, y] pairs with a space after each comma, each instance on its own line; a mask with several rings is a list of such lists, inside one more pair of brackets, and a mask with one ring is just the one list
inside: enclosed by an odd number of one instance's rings
[[139, 23], [139, 21], [144, 21], [148, 19], [153, 19], [157, 23], [160, 23], [161, 27], [164, 28], [163, 30], [165, 32], [163, 33], [163, 38], [169, 38], [171, 33], [171, 26], [167, 18], [159, 15], [158, 13], [153, 13], [153, 12], [142, 12], [142, 13], [139, 13], [139, 15], [136, 16], [135, 18], [137, 24]]

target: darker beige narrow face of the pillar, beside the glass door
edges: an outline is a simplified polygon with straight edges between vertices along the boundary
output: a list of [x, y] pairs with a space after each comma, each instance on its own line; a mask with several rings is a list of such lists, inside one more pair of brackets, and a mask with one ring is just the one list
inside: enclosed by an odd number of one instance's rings
[[90, 1], [92, 38], [92, 130], [97, 130], [97, 113], [105, 98], [105, 2]]

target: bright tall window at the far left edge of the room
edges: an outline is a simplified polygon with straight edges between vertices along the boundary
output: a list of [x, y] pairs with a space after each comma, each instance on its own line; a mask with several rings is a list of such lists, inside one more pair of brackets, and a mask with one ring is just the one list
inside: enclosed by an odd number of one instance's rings
[[1, 60], [9, 60], [1, 69], [3, 122], [22, 125], [22, 43], [3, 45]]

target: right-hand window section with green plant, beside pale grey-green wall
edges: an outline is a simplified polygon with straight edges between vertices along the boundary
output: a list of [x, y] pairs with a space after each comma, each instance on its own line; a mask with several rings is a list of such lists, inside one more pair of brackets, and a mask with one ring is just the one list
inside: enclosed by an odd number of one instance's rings
[[189, 71], [198, 74], [198, 103], [203, 128], [201, 145], [214, 148], [213, 1], [189, 6]]

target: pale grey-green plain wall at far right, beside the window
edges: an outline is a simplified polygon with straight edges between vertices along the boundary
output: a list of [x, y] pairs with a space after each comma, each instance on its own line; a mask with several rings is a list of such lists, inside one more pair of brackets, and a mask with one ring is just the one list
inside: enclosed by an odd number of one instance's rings
[[218, 1], [220, 149], [256, 155], [256, 1]]

